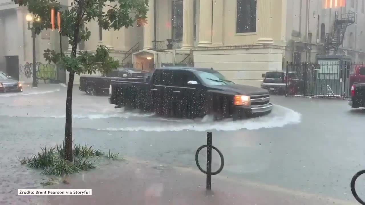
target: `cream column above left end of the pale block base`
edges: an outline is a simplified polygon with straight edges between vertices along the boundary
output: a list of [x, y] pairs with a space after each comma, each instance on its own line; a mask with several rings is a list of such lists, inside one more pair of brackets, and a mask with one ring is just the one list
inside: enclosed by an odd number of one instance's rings
[[200, 0], [198, 46], [212, 44], [212, 6], [212, 0]]

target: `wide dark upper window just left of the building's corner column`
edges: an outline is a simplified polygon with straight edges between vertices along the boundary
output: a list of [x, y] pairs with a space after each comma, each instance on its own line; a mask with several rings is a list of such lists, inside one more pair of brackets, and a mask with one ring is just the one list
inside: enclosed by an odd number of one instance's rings
[[237, 0], [237, 33], [256, 31], [256, 4], [257, 0]]

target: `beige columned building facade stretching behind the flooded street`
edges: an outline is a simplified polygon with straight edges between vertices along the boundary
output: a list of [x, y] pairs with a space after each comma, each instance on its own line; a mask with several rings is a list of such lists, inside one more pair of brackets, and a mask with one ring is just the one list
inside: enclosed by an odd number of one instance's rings
[[[340, 5], [340, 1], [343, 5]], [[111, 55], [120, 62], [134, 63], [135, 69], [150, 70], [164, 65], [213, 67], [236, 83], [259, 86], [263, 73], [285, 70], [286, 61], [316, 61], [316, 54], [325, 51], [326, 34], [329, 35], [328, 39], [333, 38], [331, 35], [336, 14], [341, 19], [347, 13], [354, 12], [357, 13], [356, 22], [346, 24], [343, 43], [339, 45], [337, 54], [349, 55], [353, 61], [365, 60], [365, 39], [362, 34], [365, 24], [357, 23], [365, 17], [364, 0], [149, 2], [148, 23], [145, 26], [138, 27], [135, 24], [120, 31], [105, 31], [99, 28], [97, 22], [88, 23], [92, 35], [90, 40], [80, 43], [79, 49], [95, 51], [97, 45], [103, 44], [110, 48]], [[26, 54], [30, 53], [28, 46], [31, 38], [24, 26], [26, 11], [19, 14], [19, 9], [15, 7], [7, 10], [12, 10], [12, 15], [18, 16], [18, 25], [23, 28], [23, 34], [19, 35], [23, 36], [24, 46], [20, 45], [18, 50], [23, 50], [17, 55], [24, 53], [25, 57], [19, 58], [22, 59], [19, 64], [28, 62], [31, 58], [26, 57]], [[0, 14], [1, 11], [0, 3]], [[20, 19], [23, 19], [23, 23], [19, 23]], [[3, 26], [13, 24], [4, 23], [11, 20], [5, 18]], [[7, 30], [4, 31], [8, 36], [6, 38], [14, 38], [8, 35]], [[4, 31], [0, 31], [0, 35]], [[48, 41], [37, 37], [37, 45], [42, 47], [38, 51], [43, 51], [43, 47], [47, 46], [51, 49], [58, 47], [57, 33], [52, 32]], [[42, 35], [47, 36], [47, 33]], [[4, 56], [8, 55], [7, 46], [0, 51]], [[41, 52], [37, 54], [37, 59], [43, 60]], [[4, 60], [0, 59], [1, 62]], [[74, 82], [78, 84], [77, 77]]]

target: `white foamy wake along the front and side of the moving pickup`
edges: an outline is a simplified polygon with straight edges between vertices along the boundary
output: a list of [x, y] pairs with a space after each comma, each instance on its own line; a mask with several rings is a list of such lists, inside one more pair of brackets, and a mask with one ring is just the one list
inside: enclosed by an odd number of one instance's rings
[[[205, 117], [204, 117], [205, 118]], [[204, 121], [210, 121], [208, 119], [201, 120], [200, 123], [192, 122], [185, 124], [172, 124], [156, 126], [141, 126], [141, 127], [124, 127], [124, 128], [100, 128], [98, 130], [107, 131], [183, 131], [183, 130], [194, 130], [194, 131], [207, 131], [207, 130], [223, 130], [223, 131], [234, 131], [238, 129], [260, 129], [260, 128], [273, 128], [273, 127], [284, 127], [287, 124], [297, 124], [301, 121], [301, 114], [293, 111], [292, 109], [274, 105], [273, 111], [266, 116], [257, 117], [247, 120], [232, 121], [231, 119], [204, 123]]]

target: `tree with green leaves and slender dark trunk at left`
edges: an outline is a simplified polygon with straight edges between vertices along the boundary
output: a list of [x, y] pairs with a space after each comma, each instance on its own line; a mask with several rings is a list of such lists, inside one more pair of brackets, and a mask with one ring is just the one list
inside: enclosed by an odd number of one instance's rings
[[[50, 10], [59, 10], [57, 0], [13, 0], [19, 6], [27, 6], [28, 11], [40, 22], [34, 22], [35, 32], [40, 34], [43, 29], [52, 27], [50, 23]], [[103, 12], [103, 8], [108, 8]], [[69, 82], [66, 97], [66, 121], [65, 121], [65, 159], [72, 162], [72, 89], [75, 73], [108, 73], [119, 66], [109, 56], [109, 50], [104, 45], [99, 45], [96, 53], [79, 51], [77, 45], [81, 40], [88, 40], [91, 32], [85, 24], [97, 21], [104, 30], [119, 30], [122, 27], [133, 27], [133, 23], [146, 19], [148, 0], [72, 0], [71, 7], [61, 12], [61, 35], [69, 38], [72, 46], [70, 56], [56, 53], [53, 50], [45, 50], [43, 56], [46, 61], [59, 63], [69, 71]], [[134, 15], [133, 15], [134, 13]], [[145, 21], [142, 21], [145, 22]], [[84, 28], [80, 32], [80, 28]]]

